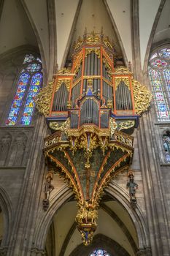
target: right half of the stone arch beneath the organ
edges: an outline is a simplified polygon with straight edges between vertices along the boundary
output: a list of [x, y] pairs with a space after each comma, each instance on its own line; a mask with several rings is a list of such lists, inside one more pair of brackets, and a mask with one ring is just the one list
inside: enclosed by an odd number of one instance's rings
[[134, 223], [134, 227], [136, 229], [139, 249], [149, 247], [150, 241], [148, 240], [148, 230], [144, 221], [144, 216], [139, 206], [133, 210], [131, 208], [131, 203], [127, 192], [125, 192], [124, 189], [122, 189], [115, 182], [110, 183], [105, 190], [110, 196], [115, 197], [115, 199], [125, 208], [125, 210], [128, 211], [128, 214], [131, 217], [131, 220]]

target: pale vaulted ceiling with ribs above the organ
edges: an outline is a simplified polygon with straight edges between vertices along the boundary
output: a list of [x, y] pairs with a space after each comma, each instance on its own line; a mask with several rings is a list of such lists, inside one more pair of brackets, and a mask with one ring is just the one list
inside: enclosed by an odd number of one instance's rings
[[[63, 67], [72, 42], [85, 31], [100, 32], [115, 42], [117, 53], [133, 61], [133, 0], [1, 0], [0, 58], [21, 45], [39, 48], [49, 77]], [[139, 0], [139, 42], [144, 66], [147, 45], [170, 39], [170, 1]], [[155, 29], [155, 31], [153, 31]], [[151, 38], [152, 37], [152, 38]], [[126, 63], [127, 63], [126, 61]]]

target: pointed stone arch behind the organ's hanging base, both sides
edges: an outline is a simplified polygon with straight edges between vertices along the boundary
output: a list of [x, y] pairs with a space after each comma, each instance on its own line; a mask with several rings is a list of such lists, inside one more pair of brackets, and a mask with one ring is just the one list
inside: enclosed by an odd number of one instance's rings
[[[136, 234], [139, 243], [139, 249], [144, 249], [150, 247], [150, 241], [148, 240], [148, 233], [146, 223], [144, 222], [144, 216], [139, 206], [135, 210], [131, 208], [130, 201], [128, 200], [128, 193], [125, 192], [121, 187], [119, 187], [114, 182], [109, 184], [105, 192], [111, 197], [114, 197], [124, 208], [128, 211], [129, 216], [136, 229]], [[39, 216], [39, 223], [36, 225], [33, 244], [36, 248], [44, 249], [45, 240], [47, 237], [47, 232], [53, 221], [54, 214], [58, 211], [64, 203], [66, 203], [73, 193], [68, 186], [63, 187], [63, 189], [58, 192], [58, 194], [53, 195], [50, 199], [50, 207], [46, 212], [42, 211], [41, 216]]]

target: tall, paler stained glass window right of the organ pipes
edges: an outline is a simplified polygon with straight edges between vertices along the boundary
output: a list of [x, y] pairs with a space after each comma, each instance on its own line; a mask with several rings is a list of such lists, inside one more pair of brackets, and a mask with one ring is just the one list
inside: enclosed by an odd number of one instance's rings
[[148, 72], [158, 121], [170, 121], [170, 48], [152, 54]]

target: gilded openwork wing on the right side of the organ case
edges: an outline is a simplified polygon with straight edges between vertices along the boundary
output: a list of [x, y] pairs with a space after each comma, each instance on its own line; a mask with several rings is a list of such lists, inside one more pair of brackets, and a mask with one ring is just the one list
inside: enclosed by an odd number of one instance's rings
[[142, 86], [138, 81], [132, 80], [132, 87], [134, 91], [134, 105], [135, 112], [139, 115], [150, 107], [152, 94], [146, 86]]

